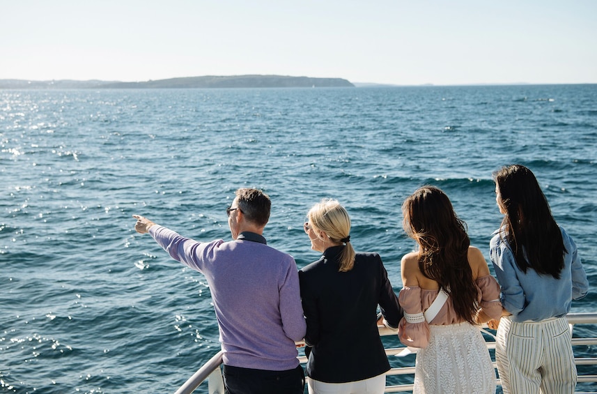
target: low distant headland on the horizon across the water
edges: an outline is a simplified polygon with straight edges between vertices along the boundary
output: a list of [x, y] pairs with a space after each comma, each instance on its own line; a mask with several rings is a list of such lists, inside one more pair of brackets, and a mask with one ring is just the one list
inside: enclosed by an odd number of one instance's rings
[[149, 80], [145, 82], [28, 81], [25, 79], [0, 79], [0, 89], [216, 89], [216, 88], [329, 88], [355, 87], [342, 78], [289, 77], [285, 75], [231, 75], [183, 77]]

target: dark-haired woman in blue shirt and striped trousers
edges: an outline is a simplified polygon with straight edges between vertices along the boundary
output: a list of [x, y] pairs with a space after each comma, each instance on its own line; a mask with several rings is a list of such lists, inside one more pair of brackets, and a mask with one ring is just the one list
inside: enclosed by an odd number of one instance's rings
[[573, 393], [577, 374], [566, 314], [589, 282], [574, 241], [552, 217], [534, 174], [509, 165], [493, 173], [504, 214], [490, 258], [502, 286], [504, 318], [495, 361], [504, 393]]

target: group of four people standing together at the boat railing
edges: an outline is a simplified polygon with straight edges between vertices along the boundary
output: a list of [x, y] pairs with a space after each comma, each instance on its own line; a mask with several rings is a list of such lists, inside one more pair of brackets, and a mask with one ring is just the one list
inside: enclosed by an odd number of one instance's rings
[[477, 327], [484, 322], [497, 328], [504, 393], [573, 393], [565, 315], [588, 291], [576, 245], [552, 218], [529, 169], [503, 167], [494, 180], [504, 214], [490, 243], [499, 285], [447, 195], [433, 186], [402, 206], [403, 227], [418, 248], [401, 261], [399, 296], [380, 256], [352, 248], [350, 217], [334, 199], [307, 214], [304, 231], [322, 256], [298, 274], [293, 257], [265, 243], [271, 202], [260, 190], [237, 190], [226, 210], [233, 241], [200, 243], [141, 215], [134, 215], [135, 229], [206, 275], [226, 393], [303, 393], [296, 350], [302, 340], [309, 393], [383, 393], [390, 366], [380, 320], [419, 348], [414, 393], [495, 393]]

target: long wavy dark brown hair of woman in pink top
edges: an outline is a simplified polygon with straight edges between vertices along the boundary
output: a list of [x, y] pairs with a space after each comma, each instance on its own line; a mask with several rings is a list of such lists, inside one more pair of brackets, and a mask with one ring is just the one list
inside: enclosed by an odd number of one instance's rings
[[435, 186], [417, 189], [402, 204], [405, 232], [419, 244], [419, 269], [451, 295], [460, 319], [475, 324], [478, 289], [468, 262], [470, 239], [448, 196]]

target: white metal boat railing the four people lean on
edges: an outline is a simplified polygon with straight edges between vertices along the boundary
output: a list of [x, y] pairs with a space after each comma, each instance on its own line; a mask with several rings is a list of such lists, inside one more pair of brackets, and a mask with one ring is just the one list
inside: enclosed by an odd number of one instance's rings
[[[566, 317], [568, 318], [568, 324], [570, 324], [571, 330], [573, 330], [573, 327], [576, 324], [597, 324], [597, 312], [569, 313]], [[380, 335], [382, 336], [396, 335], [395, 331], [391, 331], [385, 326], [379, 326], [378, 328], [380, 330]], [[486, 338], [488, 351], [495, 349], [495, 340], [490, 339], [495, 338], [493, 337], [493, 333], [487, 331], [486, 326], [483, 327], [483, 330], [488, 334], [483, 335], [483, 337]], [[592, 346], [596, 344], [597, 338], [572, 338], [573, 349], [575, 349], [575, 347]], [[396, 356], [405, 351], [405, 349], [405, 347], [396, 347], [386, 348], [385, 350], [387, 356]], [[307, 363], [307, 358], [305, 356], [299, 356], [298, 359], [302, 364]], [[575, 357], [574, 361], [576, 365], [597, 365], [597, 357]], [[176, 394], [192, 393], [206, 380], [208, 381], [209, 394], [224, 394], [224, 384], [222, 382], [220, 365], [222, 365], [222, 351], [218, 351], [207, 363], [203, 364], [192, 377], [185, 381], [183, 386], [178, 388]], [[493, 362], [493, 366], [496, 368], [495, 361]], [[387, 376], [394, 375], [414, 375], [414, 366], [391, 368], [391, 370], [387, 372]], [[578, 382], [597, 382], [597, 374], [579, 374]], [[499, 378], [497, 379], [497, 384], [500, 384]], [[412, 384], [389, 385], [385, 388], [385, 393], [401, 393], [408, 391], [412, 391]]]

